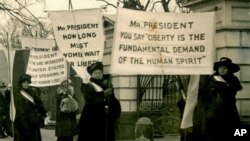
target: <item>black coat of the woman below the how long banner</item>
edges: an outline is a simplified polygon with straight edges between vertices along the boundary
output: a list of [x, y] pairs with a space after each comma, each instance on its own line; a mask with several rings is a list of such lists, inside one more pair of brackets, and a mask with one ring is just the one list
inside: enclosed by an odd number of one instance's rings
[[[94, 80], [103, 90], [107, 87], [102, 80]], [[115, 120], [120, 116], [121, 106], [114, 94], [105, 100], [104, 92], [96, 92], [91, 84], [82, 85], [86, 104], [82, 111], [78, 129], [78, 141], [115, 141]], [[109, 106], [106, 113], [105, 105]], [[107, 137], [107, 138], [106, 138]]]

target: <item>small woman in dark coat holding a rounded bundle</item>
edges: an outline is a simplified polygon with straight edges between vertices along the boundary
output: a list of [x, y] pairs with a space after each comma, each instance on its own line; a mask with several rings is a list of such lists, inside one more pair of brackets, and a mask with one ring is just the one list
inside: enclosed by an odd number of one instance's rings
[[60, 104], [64, 98], [74, 96], [74, 88], [70, 85], [71, 80], [63, 80], [57, 89], [57, 111], [56, 111], [56, 136], [57, 141], [73, 141], [77, 134], [76, 112], [63, 113]]

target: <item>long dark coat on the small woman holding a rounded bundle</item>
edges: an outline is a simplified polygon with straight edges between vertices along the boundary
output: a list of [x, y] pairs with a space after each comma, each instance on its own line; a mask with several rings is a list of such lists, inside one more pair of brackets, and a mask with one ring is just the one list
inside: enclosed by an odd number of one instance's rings
[[67, 94], [57, 95], [57, 111], [56, 111], [56, 136], [74, 136], [77, 134], [76, 112], [62, 113], [60, 111], [60, 103]]

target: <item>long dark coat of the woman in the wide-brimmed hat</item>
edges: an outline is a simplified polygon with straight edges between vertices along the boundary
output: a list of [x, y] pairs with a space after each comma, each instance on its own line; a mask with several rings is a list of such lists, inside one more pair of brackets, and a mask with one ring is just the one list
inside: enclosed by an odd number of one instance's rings
[[205, 141], [231, 141], [240, 126], [235, 96], [242, 86], [233, 74], [223, 76], [226, 82], [216, 81], [215, 75], [199, 91], [194, 123]]

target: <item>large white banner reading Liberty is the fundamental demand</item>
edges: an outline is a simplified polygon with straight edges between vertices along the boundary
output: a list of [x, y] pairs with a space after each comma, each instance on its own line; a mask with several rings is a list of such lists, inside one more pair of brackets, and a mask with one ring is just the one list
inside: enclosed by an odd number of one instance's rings
[[[133, 16], [127, 16], [133, 15]], [[112, 74], [212, 74], [214, 13], [118, 9]]]

